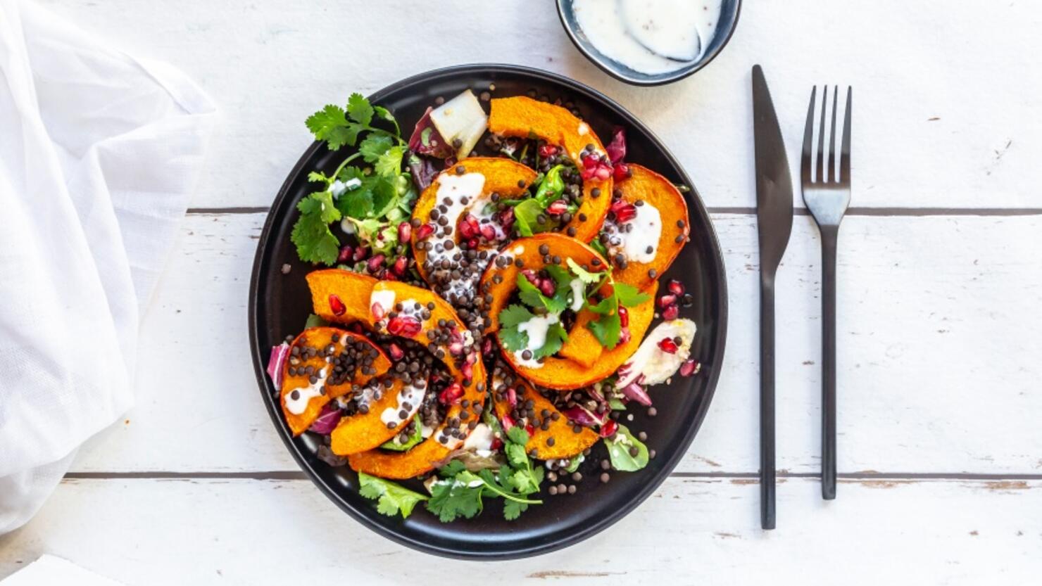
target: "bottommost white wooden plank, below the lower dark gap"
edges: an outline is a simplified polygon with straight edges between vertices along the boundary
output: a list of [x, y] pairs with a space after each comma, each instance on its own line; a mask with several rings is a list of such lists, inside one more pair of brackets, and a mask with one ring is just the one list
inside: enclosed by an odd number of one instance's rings
[[21, 531], [0, 537], [0, 577], [43, 553], [126, 584], [1033, 584], [1042, 570], [1042, 482], [817, 482], [778, 487], [778, 529], [759, 490], [672, 479], [581, 545], [475, 565], [419, 555], [351, 520], [306, 481], [66, 481]]

